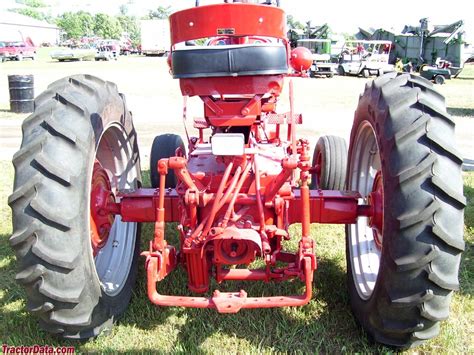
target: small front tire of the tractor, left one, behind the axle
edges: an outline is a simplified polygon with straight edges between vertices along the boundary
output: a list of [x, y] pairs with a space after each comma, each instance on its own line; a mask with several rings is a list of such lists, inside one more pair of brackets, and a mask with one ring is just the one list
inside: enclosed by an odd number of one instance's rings
[[[186, 155], [186, 148], [183, 140], [177, 134], [162, 134], [156, 136], [151, 146], [150, 154], [150, 181], [154, 188], [160, 187], [160, 175], [158, 174], [158, 161], [160, 159], [167, 159], [176, 155], [176, 149], [180, 148], [178, 152], [180, 155]], [[173, 170], [168, 170], [166, 175], [165, 187], [175, 188], [177, 178]]]

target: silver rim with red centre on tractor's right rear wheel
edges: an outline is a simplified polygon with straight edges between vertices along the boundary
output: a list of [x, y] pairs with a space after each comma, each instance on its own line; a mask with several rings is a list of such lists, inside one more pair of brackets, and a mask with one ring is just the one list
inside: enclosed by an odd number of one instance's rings
[[[374, 129], [367, 121], [357, 131], [349, 174], [349, 190], [360, 193], [360, 203], [372, 203], [372, 210], [377, 210], [379, 217], [382, 209], [383, 216], [383, 190], [381, 198], [374, 195], [374, 191], [380, 194], [383, 189], [380, 153]], [[375, 205], [374, 198], [377, 199]], [[377, 226], [374, 225], [373, 217], [359, 217], [348, 228], [352, 277], [359, 296], [364, 300], [369, 299], [374, 291], [382, 257], [383, 219], [376, 223]]]

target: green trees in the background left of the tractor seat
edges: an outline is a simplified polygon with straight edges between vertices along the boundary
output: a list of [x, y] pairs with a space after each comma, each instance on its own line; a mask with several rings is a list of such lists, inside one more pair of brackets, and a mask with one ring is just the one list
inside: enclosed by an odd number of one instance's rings
[[91, 14], [86, 11], [65, 12], [59, 16], [52, 16], [49, 6], [42, 0], [15, 0], [15, 2], [21, 4], [21, 7], [9, 11], [54, 24], [64, 32], [67, 39], [93, 36], [119, 39], [122, 33], [126, 32], [135, 46], [140, 42], [140, 20], [164, 19], [171, 13], [171, 7], [159, 6], [150, 10], [145, 16], [136, 17], [129, 15], [127, 6], [122, 5], [120, 13], [115, 16], [104, 13]]

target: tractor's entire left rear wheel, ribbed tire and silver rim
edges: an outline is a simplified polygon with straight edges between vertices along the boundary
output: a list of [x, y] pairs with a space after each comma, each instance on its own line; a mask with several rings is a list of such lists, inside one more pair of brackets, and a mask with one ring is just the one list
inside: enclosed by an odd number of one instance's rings
[[[125, 311], [136, 278], [139, 226], [113, 215], [99, 225], [92, 213], [95, 188], [108, 185], [114, 199], [140, 185], [131, 114], [115, 84], [75, 75], [36, 98], [22, 129], [8, 200], [16, 279], [42, 328], [65, 338], [96, 336]], [[99, 229], [101, 240], [91, 232]], [[93, 250], [94, 241], [102, 244]]]

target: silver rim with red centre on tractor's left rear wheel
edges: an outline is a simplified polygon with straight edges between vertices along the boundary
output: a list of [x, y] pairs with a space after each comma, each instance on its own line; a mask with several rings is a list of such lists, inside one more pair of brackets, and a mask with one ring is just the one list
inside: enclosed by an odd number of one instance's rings
[[[123, 128], [118, 126], [107, 128], [100, 138], [96, 161], [103, 170], [100, 174], [105, 173], [108, 177], [110, 202], [117, 202], [115, 196], [120, 190], [138, 187], [137, 172], [129, 164], [132, 159], [133, 149]], [[94, 194], [94, 190], [91, 190], [91, 204], [94, 203], [94, 198], [97, 198], [97, 195]], [[95, 222], [93, 217], [91, 208], [91, 232], [92, 223]], [[113, 216], [111, 221], [107, 238], [101, 239], [102, 243], [95, 249], [94, 233], [91, 233], [91, 246], [101, 287], [108, 296], [112, 297], [120, 293], [128, 279], [135, 254], [138, 225], [133, 222], [122, 222], [119, 215]]]

